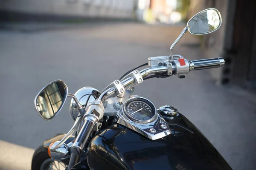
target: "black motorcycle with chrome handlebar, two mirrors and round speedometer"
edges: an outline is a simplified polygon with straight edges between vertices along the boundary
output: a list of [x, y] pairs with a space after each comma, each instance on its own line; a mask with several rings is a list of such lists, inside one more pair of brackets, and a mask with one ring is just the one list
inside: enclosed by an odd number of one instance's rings
[[[169, 56], [150, 57], [113, 81], [102, 93], [84, 87], [69, 94], [62, 80], [46, 85], [35, 97], [35, 109], [45, 120], [55, 117], [67, 96], [75, 121], [67, 134], [44, 141], [32, 158], [32, 170], [230, 170], [208, 139], [176, 108], [157, 109], [150, 100], [131, 95], [136, 85], [154, 77], [224, 66], [223, 58], [190, 61], [173, 55], [183, 35], [202, 35], [221, 26], [221, 14], [209, 8], [192, 17], [170, 48]], [[137, 69], [148, 65], [142, 71]]]

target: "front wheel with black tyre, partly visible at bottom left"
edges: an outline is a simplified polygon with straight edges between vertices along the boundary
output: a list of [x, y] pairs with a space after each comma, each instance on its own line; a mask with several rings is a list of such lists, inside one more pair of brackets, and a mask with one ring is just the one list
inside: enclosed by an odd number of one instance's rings
[[52, 159], [47, 152], [47, 148], [40, 145], [32, 158], [31, 170], [66, 170], [67, 165], [61, 161]]

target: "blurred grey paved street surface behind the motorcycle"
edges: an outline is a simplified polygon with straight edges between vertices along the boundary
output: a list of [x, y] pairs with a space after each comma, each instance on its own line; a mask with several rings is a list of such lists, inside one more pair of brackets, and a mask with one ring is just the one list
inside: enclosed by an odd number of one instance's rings
[[[169, 55], [170, 45], [183, 29], [139, 23], [58, 28], [34, 25], [0, 30], [0, 139], [33, 149], [56, 133], [66, 133], [73, 125], [70, 99], [51, 121], [44, 121], [36, 113], [34, 98], [44, 85], [62, 79], [69, 93], [84, 86], [101, 91], [126, 71], [147, 62], [148, 57]], [[198, 38], [187, 33], [174, 53], [191, 60], [202, 59], [199, 48]], [[145, 80], [134, 94], [150, 99], [157, 108], [166, 104], [177, 108], [233, 169], [255, 169], [253, 94], [215, 85], [207, 70], [191, 72], [185, 79], [173, 76]], [[30, 162], [31, 158], [19, 159]]]

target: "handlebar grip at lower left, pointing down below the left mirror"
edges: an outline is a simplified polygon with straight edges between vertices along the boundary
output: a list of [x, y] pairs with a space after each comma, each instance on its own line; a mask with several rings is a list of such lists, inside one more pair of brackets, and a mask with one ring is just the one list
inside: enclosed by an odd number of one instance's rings
[[76, 136], [76, 140], [71, 147], [72, 154], [78, 155], [84, 149], [84, 145], [87, 143], [90, 134], [93, 131], [93, 127], [96, 124], [96, 118], [93, 116], [87, 116], [84, 118], [84, 123]]

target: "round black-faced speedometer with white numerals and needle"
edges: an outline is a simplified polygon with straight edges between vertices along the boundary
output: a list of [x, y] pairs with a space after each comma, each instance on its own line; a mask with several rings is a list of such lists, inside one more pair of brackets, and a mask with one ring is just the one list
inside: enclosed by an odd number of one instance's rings
[[135, 122], [147, 123], [155, 118], [156, 108], [148, 99], [134, 97], [125, 103], [125, 113]]

